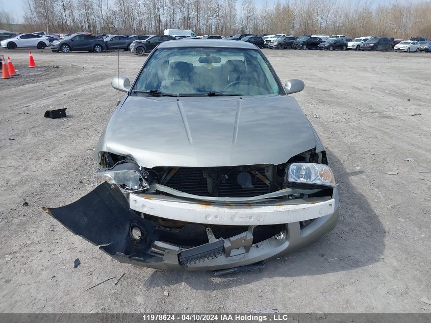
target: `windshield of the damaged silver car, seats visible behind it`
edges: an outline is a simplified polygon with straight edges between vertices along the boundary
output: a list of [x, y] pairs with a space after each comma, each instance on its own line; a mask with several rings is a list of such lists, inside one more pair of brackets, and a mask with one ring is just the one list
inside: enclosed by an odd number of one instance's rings
[[150, 56], [132, 94], [268, 95], [281, 93], [266, 60], [255, 49], [161, 48]]

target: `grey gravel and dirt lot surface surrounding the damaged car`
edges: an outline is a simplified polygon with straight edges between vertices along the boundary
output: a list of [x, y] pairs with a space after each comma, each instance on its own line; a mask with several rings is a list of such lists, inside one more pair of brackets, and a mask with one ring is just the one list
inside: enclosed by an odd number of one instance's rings
[[[327, 147], [340, 221], [260, 273], [216, 278], [120, 264], [41, 210], [98, 184], [116, 53], [36, 50], [30, 69], [27, 51], [1, 49], [20, 76], [0, 80], [0, 312], [431, 312], [431, 54], [264, 52], [306, 83], [294, 96]], [[145, 57], [119, 59], [133, 79]], [[67, 118], [44, 118], [50, 106]]]

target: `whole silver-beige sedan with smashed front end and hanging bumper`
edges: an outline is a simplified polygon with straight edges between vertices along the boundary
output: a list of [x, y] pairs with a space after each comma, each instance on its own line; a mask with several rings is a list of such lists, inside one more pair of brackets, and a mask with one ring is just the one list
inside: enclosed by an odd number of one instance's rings
[[95, 148], [103, 181], [44, 210], [116, 260], [227, 269], [281, 257], [338, 220], [334, 175], [309, 120], [262, 52], [240, 41], [155, 48]]

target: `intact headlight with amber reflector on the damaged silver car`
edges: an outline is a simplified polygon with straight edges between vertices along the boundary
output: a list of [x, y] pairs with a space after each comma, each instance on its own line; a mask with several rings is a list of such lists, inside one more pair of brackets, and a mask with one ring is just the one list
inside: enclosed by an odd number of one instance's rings
[[293, 163], [289, 165], [287, 181], [324, 186], [335, 186], [334, 173], [325, 164]]

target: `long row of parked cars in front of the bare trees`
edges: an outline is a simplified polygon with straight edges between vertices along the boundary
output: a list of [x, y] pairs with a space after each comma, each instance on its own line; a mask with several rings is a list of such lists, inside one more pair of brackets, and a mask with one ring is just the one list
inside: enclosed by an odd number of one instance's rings
[[[178, 35], [177, 35], [178, 34]], [[1, 35], [0, 35], [1, 36]], [[9, 35], [11, 37], [12, 35]], [[354, 49], [356, 51], [391, 51], [395, 52], [431, 52], [431, 41], [424, 37], [412, 37], [410, 40], [394, 39], [393, 37], [365, 36], [355, 39], [345, 35], [302, 35], [300, 37], [285, 34], [255, 35], [237, 34], [229, 37], [221, 35], [196, 36], [190, 30], [165, 30], [164, 35], [109, 35], [91, 33], [49, 34], [37, 32], [33, 34], [17, 34], [0, 42], [2, 47], [45, 48], [50, 46], [53, 52], [69, 53], [71, 51], [103, 52], [107, 49], [123, 49], [137, 55], [152, 51], [158, 44], [168, 40], [181, 39], [227, 39], [253, 43], [259, 48], [270, 49]]]

